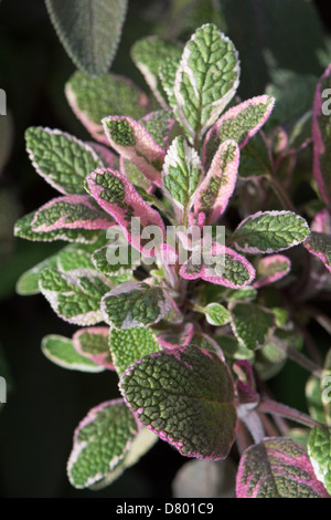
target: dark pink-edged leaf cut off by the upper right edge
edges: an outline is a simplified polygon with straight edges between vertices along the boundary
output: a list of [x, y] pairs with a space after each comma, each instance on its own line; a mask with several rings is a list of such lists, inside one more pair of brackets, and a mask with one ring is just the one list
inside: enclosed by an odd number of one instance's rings
[[313, 176], [329, 211], [331, 211], [331, 126], [328, 98], [325, 98], [324, 93], [328, 93], [330, 87], [331, 64], [327, 67], [317, 85], [312, 110]]

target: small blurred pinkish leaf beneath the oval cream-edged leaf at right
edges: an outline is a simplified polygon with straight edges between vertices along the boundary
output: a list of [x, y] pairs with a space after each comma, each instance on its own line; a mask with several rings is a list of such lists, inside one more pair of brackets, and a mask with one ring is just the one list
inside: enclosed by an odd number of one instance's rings
[[256, 267], [255, 288], [268, 285], [286, 277], [291, 269], [289, 258], [284, 254], [271, 254], [258, 261]]

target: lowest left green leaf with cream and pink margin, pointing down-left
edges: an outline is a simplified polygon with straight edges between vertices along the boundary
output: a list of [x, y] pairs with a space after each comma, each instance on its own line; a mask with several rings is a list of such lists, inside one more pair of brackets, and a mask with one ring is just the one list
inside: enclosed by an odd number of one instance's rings
[[92, 408], [75, 430], [67, 464], [71, 483], [78, 489], [109, 485], [156, 441], [145, 431], [122, 399]]

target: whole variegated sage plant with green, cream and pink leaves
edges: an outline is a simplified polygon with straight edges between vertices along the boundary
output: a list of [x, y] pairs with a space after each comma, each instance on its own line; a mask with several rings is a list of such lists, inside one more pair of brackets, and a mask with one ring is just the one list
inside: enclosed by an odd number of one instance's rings
[[[292, 302], [331, 288], [321, 112], [331, 70], [317, 85], [312, 137], [295, 149], [286, 129], [267, 125], [274, 96], [237, 97], [237, 51], [214, 24], [184, 45], [142, 39], [131, 55], [154, 100], [126, 77], [77, 71], [65, 93], [92, 141], [25, 134], [58, 196], [21, 218], [15, 235], [67, 245], [22, 274], [18, 291], [41, 292], [78, 327], [44, 337], [45, 356], [119, 379], [118, 395], [74, 433], [70, 481], [109, 485], [161, 439], [200, 459], [236, 449], [237, 497], [328, 498], [331, 356], [318, 364], [301, 352]], [[311, 143], [323, 207], [301, 216], [277, 171]], [[288, 357], [308, 371], [309, 415], [266, 389]], [[300, 423], [306, 444], [278, 416]]]

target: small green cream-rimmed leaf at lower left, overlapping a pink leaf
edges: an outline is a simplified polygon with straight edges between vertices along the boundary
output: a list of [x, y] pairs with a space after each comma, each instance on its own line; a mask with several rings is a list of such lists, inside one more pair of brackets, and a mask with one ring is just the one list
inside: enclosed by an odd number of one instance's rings
[[50, 361], [63, 368], [95, 373], [104, 370], [103, 366], [78, 354], [68, 337], [55, 334], [45, 336], [42, 341], [42, 352]]

